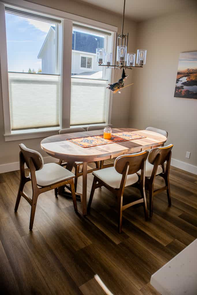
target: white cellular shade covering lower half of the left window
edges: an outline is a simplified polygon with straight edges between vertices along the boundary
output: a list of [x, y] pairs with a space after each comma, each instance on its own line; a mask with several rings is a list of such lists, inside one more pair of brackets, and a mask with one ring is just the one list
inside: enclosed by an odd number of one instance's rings
[[12, 130], [59, 126], [60, 76], [8, 73]]

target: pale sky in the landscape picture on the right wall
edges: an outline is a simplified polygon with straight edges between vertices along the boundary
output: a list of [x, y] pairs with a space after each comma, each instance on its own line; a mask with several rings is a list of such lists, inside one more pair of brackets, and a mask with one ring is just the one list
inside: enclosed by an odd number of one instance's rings
[[178, 71], [197, 68], [197, 51], [180, 53]]

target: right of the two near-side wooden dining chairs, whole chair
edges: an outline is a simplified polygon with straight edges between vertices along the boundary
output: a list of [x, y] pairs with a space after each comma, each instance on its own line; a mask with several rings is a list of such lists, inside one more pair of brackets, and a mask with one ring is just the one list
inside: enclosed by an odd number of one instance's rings
[[[146, 161], [146, 173], [145, 173], [145, 183], [149, 189], [149, 214], [152, 217], [153, 214], [153, 196], [166, 190], [168, 204], [171, 206], [171, 195], [170, 195], [170, 160], [171, 160], [171, 150], [173, 145], [167, 145], [165, 147], [153, 148], [149, 152], [148, 161]], [[165, 171], [162, 171], [162, 164], [166, 161]], [[137, 174], [141, 175], [141, 171]], [[165, 186], [154, 190], [154, 180], [155, 176], [162, 176], [165, 180]]]

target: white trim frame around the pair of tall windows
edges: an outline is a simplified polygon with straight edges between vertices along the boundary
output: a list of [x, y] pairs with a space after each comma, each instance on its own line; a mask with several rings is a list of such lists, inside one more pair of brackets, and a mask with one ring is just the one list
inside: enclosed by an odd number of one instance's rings
[[[13, 3], [14, 2], [14, 3]], [[62, 35], [62, 40], [58, 44], [58, 50], [62, 48], [62, 64], [57, 65], [57, 67], [62, 67], [62, 79], [61, 79], [61, 97], [69, 97], [69, 99], [61, 99], [60, 107], [60, 128], [70, 127], [70, 104], [71, 104], [71, 56], [72, 56], [72, 30], [73, 25], [78, 23], [84, 26], [95, 28], [98, 30], [108, 31], [112, 34], [112, 48], [113, 53], [115, 52], [115, 33], [118, 28], [109, 24], [98, 22], [92, 19], [87, 19], [80, 17], [75, 14], [70, 14], [68, 12], [63, 12], [57, 9], [42, 6], [40, 4], [30, 3], [24, 0], [5, 0], [0, 1], [0, 36], [2, 36], [0, 42], [0, 64], [1, 64], [1, 86], [2, 86], [2, 98], [3, 98], [3, 113], [4, 113], [4, 129], [5, 141], [20, 140], [26, 138], [36, 138], [36, 137], [47, 137], [57, 134], [59, 128], [54, 129], [54, 127], [40, 128], [39, 130], [19, 130], [11, 131], [10, 123], [10, 107], [9, 107], [9, 86], [8, 86], [8, 66], [7, 66], [7, 45], [6, 45], [6, 25], [5, 25], [5, 6], [18, 9], [21, 11], [32, 12], [39, 14], [40, 16], [48, 16], [56, 19], [61, 19], [62, 29], [58, 29], [57, 34]], [[61, 31], [62, 30], [62, 31]], [[60, 38], [56, 38], [58, 40]], [[64, 42], [66, 40], [66, 42]], [[80, 58], [81, 60], [81, 58]], [[57, 64], [57, 63], [56, 63]], [[87, 68], [89, 70], [89, 68]], [[111, 70], [110, 81], [113, 81], [114, 70]], [[109, 83], [110, 83], [109, 81]], [[111, 111], [112, 111], [112, 96], [113, 93], [110, 91], [108, 106], [107, 106], [107, 116], [106, 124], [111, 123]], [[100, 125], [100, 124], [96, 124]], [[87, 125], [83, 125], [86, 127]], [[74, 127], [74, 126], [72, 126]]]

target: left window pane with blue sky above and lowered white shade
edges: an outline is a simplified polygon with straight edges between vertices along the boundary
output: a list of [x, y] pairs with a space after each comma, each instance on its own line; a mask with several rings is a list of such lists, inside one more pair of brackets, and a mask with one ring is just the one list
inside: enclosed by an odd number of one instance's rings
[[60, 126], [56, 30], [56, 23], [6, 12], [11, 131]]

